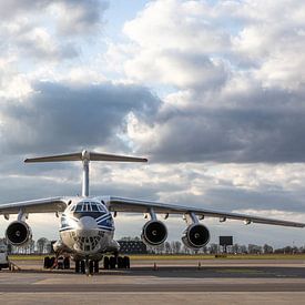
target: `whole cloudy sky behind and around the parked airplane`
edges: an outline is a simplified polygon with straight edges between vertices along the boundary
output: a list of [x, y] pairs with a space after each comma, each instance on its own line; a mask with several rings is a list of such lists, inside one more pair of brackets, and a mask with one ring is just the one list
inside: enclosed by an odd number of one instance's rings
[[[0, 203], [91, 194], [305, 222], [305, 3], [297, 0], [0, 1]], [[143, 215], [115, 218], [139, 236]], [[204, 220], [211, 241], [304, 245], [304, 230]], [[1, 217], [0, 232], [9, 222]], [[30, 215], [34, 238], [54, 215]], [[169, 238], [185, 228], [165, 221]]]

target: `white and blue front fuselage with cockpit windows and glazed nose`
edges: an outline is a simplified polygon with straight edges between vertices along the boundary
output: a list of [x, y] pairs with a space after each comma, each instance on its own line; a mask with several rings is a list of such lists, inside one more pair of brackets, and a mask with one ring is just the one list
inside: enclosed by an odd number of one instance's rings
[[72, 201], [60, 220], [57, 247], [75, 260], [101, 260], [103, 253], [118, 252], [114, 224], [103, 200], [80, 197]]

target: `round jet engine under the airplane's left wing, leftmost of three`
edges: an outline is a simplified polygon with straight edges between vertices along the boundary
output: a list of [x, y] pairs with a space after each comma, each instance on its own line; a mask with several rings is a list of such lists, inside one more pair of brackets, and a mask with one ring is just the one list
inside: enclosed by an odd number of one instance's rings
[[6, 232], [8, 242], [13, 246], [21, 246], [32, 240], [32, 231], [24, 222], [12, 222]]

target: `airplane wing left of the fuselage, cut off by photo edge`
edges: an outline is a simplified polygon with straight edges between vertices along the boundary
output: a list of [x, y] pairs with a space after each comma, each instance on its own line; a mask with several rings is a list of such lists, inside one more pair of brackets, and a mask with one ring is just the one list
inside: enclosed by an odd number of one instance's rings
[[18, 214], [20, 210], [27, 214], [63, 212], [67, 205], [68, 200], [64, 200], [63, 197], [0, 203], [0, 215]]

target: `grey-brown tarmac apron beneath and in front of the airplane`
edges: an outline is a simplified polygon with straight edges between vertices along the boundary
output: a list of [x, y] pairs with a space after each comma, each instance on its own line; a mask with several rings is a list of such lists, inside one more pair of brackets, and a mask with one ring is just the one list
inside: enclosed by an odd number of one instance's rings
[[[304, 304], [303, 260], [134, 261], [130, 270], [0, 272], [2, 304]], [[71, 266], [72, 267], [72, 266]]]

